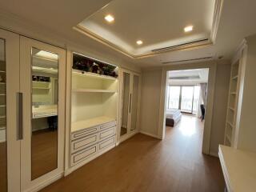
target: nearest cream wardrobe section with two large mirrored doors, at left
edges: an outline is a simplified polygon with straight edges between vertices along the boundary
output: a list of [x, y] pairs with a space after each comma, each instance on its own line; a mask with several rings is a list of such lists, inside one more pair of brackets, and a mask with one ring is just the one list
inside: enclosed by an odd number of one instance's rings
[[0, 187], [35, 191], [64, 171], [66, 50], [0, 30]]

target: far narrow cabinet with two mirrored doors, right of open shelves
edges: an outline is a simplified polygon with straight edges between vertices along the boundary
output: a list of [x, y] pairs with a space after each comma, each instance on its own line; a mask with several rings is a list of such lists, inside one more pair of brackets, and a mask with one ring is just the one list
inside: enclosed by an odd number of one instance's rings
[[119, 70], [120, 105], [118, 141], [122, 142], [138, 132], [141, 76], [130, 70]]

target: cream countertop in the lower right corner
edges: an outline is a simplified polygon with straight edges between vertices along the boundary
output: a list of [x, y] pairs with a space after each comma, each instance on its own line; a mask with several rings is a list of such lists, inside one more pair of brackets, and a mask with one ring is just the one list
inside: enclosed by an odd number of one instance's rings
[[219, 146], [219, 158], [229, 192], [256, 191], [256, 153]]

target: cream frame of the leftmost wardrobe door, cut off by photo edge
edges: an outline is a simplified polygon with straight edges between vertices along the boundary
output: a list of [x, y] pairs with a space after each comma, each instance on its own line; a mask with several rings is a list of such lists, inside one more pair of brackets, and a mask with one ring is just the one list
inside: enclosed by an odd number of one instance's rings
[[19, 35], [0, 29], [6, 56], [6, 143], [8, 191], [20, 191], [20, 140], [18, 138], [17, 93], [19, 83]]

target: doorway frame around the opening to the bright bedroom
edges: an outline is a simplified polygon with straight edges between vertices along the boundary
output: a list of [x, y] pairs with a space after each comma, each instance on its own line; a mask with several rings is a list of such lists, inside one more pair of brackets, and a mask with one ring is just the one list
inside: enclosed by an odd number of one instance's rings
[[171, 65], [162, 68], [161, 90], [160, 90], [160, 107], [158, 118], [158, 138], [164, 139], [166, 134], [166, 98], [167, 98], [167, 72], [169, 70], [192, 70], [192, 69], [209, 69], [208, 89], [207, 89], [207, 113], [204, 122], [203, 139], [202, 139], [202, 153], [210, 154], [210, 131], [212, 114], [214, 110], [214, 89], [215, 77], [217, 70], [217, 62], [199, 62], [199, 63], [184, 63], [182, 65]]

